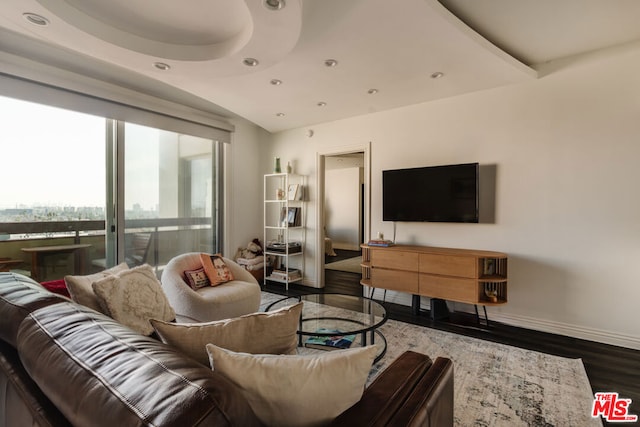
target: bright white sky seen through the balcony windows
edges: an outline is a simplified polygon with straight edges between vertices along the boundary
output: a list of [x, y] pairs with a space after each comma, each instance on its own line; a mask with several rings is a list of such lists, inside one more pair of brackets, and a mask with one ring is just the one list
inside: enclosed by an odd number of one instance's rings
[[[105, 126], [101, 117], [0, 97], [0, 209], [104, 207]], [[127, 174], [141, 185], [127, 189], [126, 208], [158, 203], [154, 131], [138, 129], [136, 143], [127, 144], [128, 158], [136, 159]]]

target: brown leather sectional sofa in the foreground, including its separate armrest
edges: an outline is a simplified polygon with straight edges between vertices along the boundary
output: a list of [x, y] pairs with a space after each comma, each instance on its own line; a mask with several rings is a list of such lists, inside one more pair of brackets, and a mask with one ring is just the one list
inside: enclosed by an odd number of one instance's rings
[[[113, 319], [0, 273], [0, 427], [260, 425], [208, 367]], [[453, 425], [453, 365], [406, 352], [333, 423]]]

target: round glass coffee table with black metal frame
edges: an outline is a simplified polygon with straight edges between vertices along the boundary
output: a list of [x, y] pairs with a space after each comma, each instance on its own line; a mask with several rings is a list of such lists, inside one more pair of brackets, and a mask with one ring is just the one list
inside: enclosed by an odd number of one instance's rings
[[376, 345], [379, 361], [387, 352], [387, 340], [378, 328], [387, 321], [384, 306], [372, 299], [342, 294], [311, 294], [282, 298], [266, 311], [303, 302], [298, 345], [334, 350], [352, 345]]

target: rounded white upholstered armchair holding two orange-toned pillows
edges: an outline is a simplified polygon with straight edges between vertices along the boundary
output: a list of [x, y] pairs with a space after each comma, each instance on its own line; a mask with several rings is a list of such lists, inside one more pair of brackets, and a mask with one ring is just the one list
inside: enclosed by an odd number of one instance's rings
[[190, 252], [171, 259], [162, 272], [162, 289], [177, 318], [183, 321], [208, 322], [255, 313], [260, 308], [260, 285], [244, 268], [223, 258], [234, 280], [218, 286], [193, 290], [184, 272], [202, 267], [200, 253]]

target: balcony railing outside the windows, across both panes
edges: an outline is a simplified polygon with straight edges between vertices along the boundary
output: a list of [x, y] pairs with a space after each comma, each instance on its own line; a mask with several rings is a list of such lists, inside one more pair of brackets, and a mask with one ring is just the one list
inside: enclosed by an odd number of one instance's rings
[[[52, 255], [43, 258], [46, 264], [43, 271], [46, 274], [38, 279], [58, 279], [78, 270], [98, 271], [100, 268], [96, 265], [99, 263], [95, 261], [106, 258], [105, 228], [105, 221], [95, 220], [0, 222], [0, 259], [20, 260], [22, 264], [13, 264], [11, 269], [31, 274], [33, 258], [28, 253], [29, 248], [86, 244], [89, 246], [82, 248], [86, 253], [83, 253], [84, 256], [81, 259], [83, 265], [79, 266], [80, 269], [77, 265], [71, 269], [69, 253]], [[144, 261], [154, 266], [156, 271], [180, 253], [214, 250], [215, 231], [211, 218], [207, 217], [126, 220], [125, 247], [127, 247], [127, 239], [139, 233], [151, 234], [150, 248]], [[76, 257], [75, 263], [77, 262]]]

